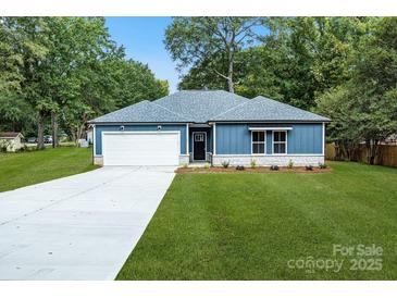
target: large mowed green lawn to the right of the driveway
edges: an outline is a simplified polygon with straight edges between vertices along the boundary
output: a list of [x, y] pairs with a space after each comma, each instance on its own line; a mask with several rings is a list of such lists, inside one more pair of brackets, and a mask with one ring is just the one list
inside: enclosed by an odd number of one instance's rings
[[[323, 174], [177, 175], [117, 280], [396, 280], [397, 169], [330, 164]], [[333, 254], [333, 245], [372, 244], [383, 249], [379, 271], [357, 250]], [[343, 266], [288, 266], [310, 258]]]

